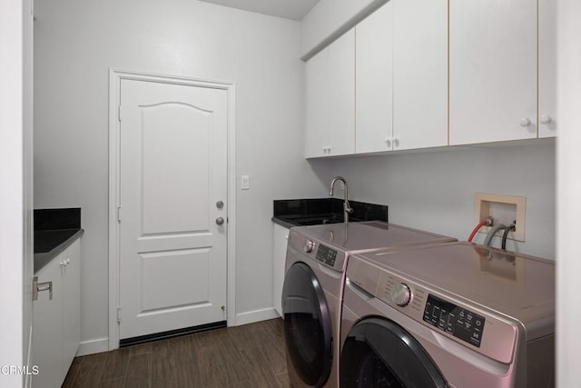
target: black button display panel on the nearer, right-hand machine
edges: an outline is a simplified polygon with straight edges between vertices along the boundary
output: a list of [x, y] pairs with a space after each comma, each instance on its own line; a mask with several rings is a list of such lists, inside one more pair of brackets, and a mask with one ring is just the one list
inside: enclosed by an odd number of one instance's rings
[[480, 347], [485, 323], [485, 318], [482, 315], [458, 307], [454, 303], [429, 293], [423, 320], [442, 332]]

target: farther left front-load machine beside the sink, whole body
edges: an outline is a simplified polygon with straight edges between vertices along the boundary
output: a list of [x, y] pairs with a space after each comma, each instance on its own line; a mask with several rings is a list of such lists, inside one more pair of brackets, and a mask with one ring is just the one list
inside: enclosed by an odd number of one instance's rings
[[339, 386], [340, 310], [351, 254], [453, 241], [380, 222], [291, 228], [282, 289], [291, 386]]

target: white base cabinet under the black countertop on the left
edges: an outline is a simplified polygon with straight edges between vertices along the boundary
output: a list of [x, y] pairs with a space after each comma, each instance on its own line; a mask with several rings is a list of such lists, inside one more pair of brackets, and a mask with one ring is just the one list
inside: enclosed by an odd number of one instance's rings
[[81, 241], [46, 264], [36, 276], [38, 283], [52, 282], [33, 303], [32, 362], [38, 374], [34, 388], [60, 387], [81, 340]]

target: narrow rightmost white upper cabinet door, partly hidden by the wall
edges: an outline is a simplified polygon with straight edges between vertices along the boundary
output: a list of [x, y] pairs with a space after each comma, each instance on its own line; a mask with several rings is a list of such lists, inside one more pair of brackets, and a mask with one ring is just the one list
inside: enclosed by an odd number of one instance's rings
[[538, 137], [556, 136], [556, 5], [538, 0]]

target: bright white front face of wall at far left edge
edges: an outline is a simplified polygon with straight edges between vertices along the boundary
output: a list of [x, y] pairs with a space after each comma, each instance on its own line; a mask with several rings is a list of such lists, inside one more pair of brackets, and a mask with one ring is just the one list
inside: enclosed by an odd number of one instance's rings
[[[23, 6], [17, 2], [0, 3], [0, 365], [22, 365], [24, 358], [24, 295], [22, 249], [23, 219]], [[12, 40], [10, 37], [16, 36]], [[7, 60], [5, 61], [4, 58]], [[5, 190], [10, 187], [10, 190]], [[0, 374], [3, 386], [22, 386], [24, 377]]]

